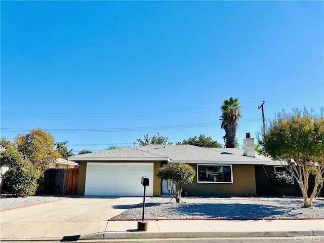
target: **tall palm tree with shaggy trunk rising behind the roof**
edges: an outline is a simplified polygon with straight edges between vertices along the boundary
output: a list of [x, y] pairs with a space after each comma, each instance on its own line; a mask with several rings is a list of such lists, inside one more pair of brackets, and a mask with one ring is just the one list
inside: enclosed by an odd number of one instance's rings
[[224, 100], [224, 104], [221, 106], [222, 118], [220, 120], [222, 120], [221, 128], [225, 130], [223, 139], [226, 148], [235, 148], [237, 121], [242, 117], [240, 107], [238, 99], [233, 97]]

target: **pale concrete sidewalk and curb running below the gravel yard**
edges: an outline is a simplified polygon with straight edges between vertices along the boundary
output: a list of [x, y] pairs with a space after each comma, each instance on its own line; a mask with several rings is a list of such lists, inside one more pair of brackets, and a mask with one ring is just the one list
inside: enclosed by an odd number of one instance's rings
[[[285, 237], [324, 235], [324, 220], [152, 220], [146, 232], [137, 221], [109, 221], [99, 238]], [[94, 235], [82, 238], [94, 238]]]

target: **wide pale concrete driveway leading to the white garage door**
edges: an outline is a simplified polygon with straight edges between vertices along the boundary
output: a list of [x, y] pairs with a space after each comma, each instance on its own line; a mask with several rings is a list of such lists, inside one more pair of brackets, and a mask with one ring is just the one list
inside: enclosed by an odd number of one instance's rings
[[1, 239], [78, 238], [105, 232], [108, 220], [142, 197], [77, 197], [1, 212]]

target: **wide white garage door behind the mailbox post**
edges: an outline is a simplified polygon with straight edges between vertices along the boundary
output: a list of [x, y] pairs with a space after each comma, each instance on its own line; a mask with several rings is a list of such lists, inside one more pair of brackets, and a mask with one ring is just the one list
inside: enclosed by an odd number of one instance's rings
[[143, 176], [150, 180], [145, 195], [152, 196], [153, 163], [87, 163], [85, 195], [143, 196]]

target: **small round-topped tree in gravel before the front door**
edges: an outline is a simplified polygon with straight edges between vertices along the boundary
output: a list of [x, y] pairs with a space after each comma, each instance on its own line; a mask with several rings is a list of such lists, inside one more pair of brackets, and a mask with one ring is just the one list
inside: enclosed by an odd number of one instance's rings
[[[195, 176], [194, 169], [184, 163], [173, 161], [169, 162], [167, 166], [158, 169], [157, 177], [162, 180], [170, 180], [171, 190], [168, 189], [172, 198], [176, 198], [177, 203], [181, 203], [182, 185], [191, 183]], [[176, 186], [176, 191], [172, 190], [173, 185]]]

